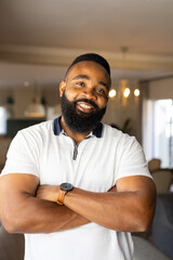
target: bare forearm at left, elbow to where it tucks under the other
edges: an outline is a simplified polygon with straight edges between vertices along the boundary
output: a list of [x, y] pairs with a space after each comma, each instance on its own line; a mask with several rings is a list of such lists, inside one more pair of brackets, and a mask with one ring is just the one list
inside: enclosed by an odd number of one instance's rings
[[11, 209], [4, 226], [10, 233], [51, 233], [89, 223], [82, 216], [56, 203], [26, 197], [25, 205]]

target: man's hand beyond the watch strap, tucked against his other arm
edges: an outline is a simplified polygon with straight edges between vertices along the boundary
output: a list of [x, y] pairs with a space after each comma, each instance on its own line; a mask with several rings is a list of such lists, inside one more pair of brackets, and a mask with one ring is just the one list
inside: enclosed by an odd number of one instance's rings
[[57, 202], [59, 185], [40, 185], [37, 190], [36, 197], [50, 202]]

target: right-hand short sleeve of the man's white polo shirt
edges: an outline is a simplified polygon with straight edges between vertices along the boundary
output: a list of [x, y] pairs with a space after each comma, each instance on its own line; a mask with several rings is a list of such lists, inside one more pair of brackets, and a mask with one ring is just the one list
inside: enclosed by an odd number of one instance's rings
[[119, 146], [119, 162], [116, 181], [123, 177], [146, 176], [151, 178], [144, 151], [134, 136], [123, 135]]

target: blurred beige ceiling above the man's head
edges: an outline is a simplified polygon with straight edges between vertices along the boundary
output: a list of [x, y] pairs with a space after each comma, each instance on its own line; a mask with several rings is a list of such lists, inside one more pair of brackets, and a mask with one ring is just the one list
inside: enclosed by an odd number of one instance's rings
[[0, 87], [55, 84], [83, 52], [115, 80], [173, 75], [173, 1], [0, 0]]

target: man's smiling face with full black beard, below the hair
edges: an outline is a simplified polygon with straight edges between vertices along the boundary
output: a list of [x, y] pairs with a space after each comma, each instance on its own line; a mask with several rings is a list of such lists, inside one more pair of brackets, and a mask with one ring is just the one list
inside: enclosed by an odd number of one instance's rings
[[62, 114], [67, 127], [90, 132], [102, 120], [108, 100], [110, 78], [99, 64], [80, 62], [61, 82]]

